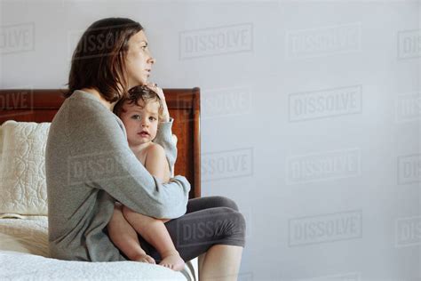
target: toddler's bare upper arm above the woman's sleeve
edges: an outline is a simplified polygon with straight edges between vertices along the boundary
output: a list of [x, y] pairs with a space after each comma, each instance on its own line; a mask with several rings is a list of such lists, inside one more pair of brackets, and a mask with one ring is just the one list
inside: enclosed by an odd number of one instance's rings
[[165, 150], [159, 144], [154, 143], [147, 149], [145, 167], [158, 180], [170, 181], [170, 167], [165, 157]]

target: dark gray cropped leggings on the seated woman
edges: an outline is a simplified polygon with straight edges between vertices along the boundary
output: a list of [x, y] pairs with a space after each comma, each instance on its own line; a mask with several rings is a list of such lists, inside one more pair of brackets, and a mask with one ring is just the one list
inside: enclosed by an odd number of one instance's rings
[[[208, 251], [212, 245], [245, 243], [245, 221], [233, 200], [226, 197], [203, 197], [188, 200], [187, 213], [165, 222], [172, 242], [184, 261]], [[160, 254], [139, 236], [143, 250], [157, 263]]]

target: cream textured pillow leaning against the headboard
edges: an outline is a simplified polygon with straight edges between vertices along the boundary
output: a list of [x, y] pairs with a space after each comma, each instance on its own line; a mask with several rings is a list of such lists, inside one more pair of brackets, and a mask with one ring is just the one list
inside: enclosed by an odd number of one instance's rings
[[0, 127], [0, 213], [47, 215], [45, 145], [50, 123]]

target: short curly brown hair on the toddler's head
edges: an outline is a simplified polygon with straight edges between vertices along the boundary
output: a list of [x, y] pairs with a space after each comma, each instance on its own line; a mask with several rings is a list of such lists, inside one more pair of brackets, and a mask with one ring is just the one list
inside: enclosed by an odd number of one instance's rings
[[118, 100], [115, 104], [113, 112], [116, 116], [121, 116], [123, 112], [125, 112], [123, 105], [125, 103], [139, 105], [139, 100], [143, 100], [144, 104], [146, 105], [149, 101], [158, 101], [159, 102], [159, 109], [158, 109], [158, 120], [163, 119], [163, 100], [159, 98], [156, 92], [149, 89], [147, 86], [135, 86], [129, 90], [129, 94], [127, 97]]

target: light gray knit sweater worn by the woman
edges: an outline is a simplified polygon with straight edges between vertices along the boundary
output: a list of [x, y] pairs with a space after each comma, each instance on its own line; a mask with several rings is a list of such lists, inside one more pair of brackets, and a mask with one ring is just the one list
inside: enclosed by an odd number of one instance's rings
[[[169, 165], [177, 149], [171, 122], [155, 142]], [[190, 184], [156, 180], [131, 152], [122, 121], [88, 92], [75, 91], [52, 120], [45, 156], [49, 246], [52, 258], [125, 261], [107, 237], [115, 200], [138, 213], [177, 218], [186, 213]]]

